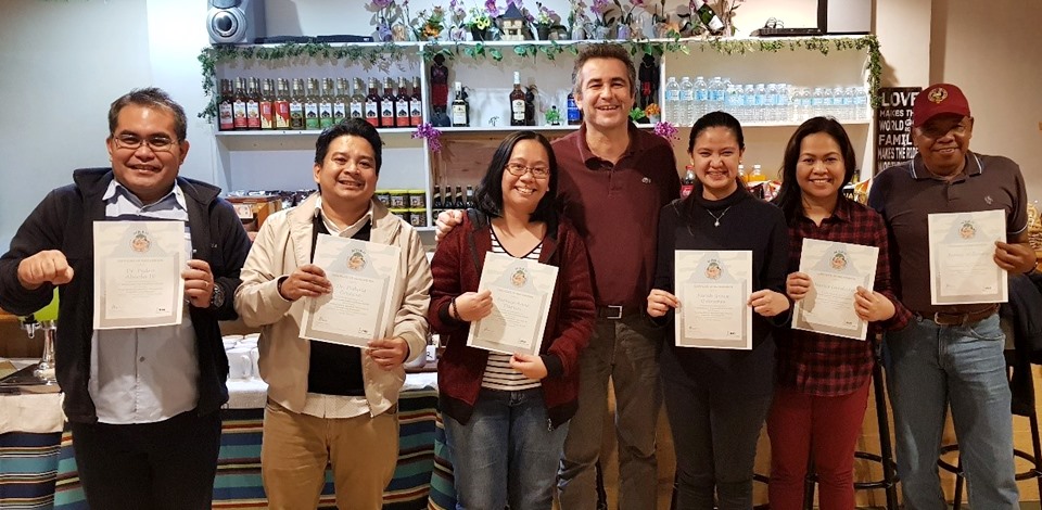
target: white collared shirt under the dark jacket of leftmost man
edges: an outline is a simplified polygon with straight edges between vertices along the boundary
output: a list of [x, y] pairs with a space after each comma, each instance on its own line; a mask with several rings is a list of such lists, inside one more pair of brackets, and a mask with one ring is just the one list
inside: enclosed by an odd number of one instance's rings
[[[185, 221], [186, 259], [192, 258], [185, 193], [177, 186], [152, 204], [115, 179], [102, 196], [105, 217]], [[195, 408], [199, 401], [195, 331], [185, 308], [180, 326], [96, 330], [90, 339], [87, 390], [101, 423], [153, 423]]]

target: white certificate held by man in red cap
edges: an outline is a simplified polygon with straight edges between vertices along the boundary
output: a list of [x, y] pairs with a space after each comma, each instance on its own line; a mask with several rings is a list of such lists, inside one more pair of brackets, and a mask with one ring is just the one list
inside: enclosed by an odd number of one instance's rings
[[1006, 239], [1004, 211], [929, 215], [930, 303], [1005, 303], [1006, 271], [995, 264], [995, 241]]

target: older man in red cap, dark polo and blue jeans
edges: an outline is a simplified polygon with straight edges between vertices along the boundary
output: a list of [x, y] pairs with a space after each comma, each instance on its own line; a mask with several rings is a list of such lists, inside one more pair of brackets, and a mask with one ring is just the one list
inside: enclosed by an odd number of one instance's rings
[[937, 459], [949, 405], [970, 507], [1019, 508], [999, 305], [938, 305], [931, 298], [932, 214], [1002, 211], [1006, 242], [995, 242], [995, 265], [1011, 273], [1035, 265], [1027, 244], [1020, 167], [1007, 157], [970, 152], [973, 132], [962, 90], [950, 84], [927, 87], [912, 106], [918, 154], [879, 174], [868, 195], [890, 229], [899, 297], [916, 314], [907, 328], [887, 333], [884, 350], [907, 510], [948, 508]]

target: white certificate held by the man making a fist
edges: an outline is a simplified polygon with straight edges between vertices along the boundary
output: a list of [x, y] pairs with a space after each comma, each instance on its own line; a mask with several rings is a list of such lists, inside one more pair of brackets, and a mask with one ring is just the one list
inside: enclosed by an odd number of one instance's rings
[[96, 330], [181, 323], [183, 221], [94, 221]]

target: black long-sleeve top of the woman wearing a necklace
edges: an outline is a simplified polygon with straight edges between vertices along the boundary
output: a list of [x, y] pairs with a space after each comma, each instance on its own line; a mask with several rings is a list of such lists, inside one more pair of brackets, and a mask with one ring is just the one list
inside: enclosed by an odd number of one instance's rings
[[[714, 225], [716, 218], [720, 226]], [[785, 216], [782, 209], [741, 187], [719, 201], [703, 199], [701, 187], [696, 187], [687, 199], [662, 208], [658, 239], [656, 289], [674, 292], [675, 250], [748, 250], [752, 252], [752, 291], [770, 289], [785, 293], [789, 260]], [[696, 383], [747, 395], [773, 391], [773, 330], [790, 320], [790, 311], [770, 319], [753, 313], [752, 350], [676, 347], [673, 317], [666, 314], [659, 321], [671, 326], [663, 356], [675, 356]]]

